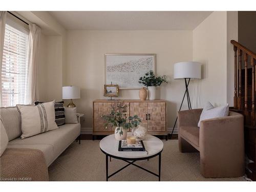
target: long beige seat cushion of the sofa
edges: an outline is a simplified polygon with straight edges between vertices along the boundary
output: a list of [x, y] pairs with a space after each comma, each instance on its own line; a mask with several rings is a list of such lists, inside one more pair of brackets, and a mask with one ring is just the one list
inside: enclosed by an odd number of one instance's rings
[[14, 139], [9, 148], [36, 148], [45, 154], [49, 166], [78, 136], [80, 124], [64, 124], [61, 129], [41, 133], [26, 139]]

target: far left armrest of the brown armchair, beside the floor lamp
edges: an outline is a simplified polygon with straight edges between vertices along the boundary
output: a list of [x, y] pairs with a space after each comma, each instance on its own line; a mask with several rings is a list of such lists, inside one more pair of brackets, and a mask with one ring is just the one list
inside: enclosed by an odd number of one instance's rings
[[197, 126], [202, 111], [203, 109], [179, 111], [179, 126]]

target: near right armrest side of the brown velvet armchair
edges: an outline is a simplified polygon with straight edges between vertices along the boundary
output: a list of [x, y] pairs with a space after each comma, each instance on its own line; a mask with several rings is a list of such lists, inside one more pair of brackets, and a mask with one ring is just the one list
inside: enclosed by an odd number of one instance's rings
[[199, 132], [201, 173], [205, 177], [239, 177], [244, 173], [243, 115], [230, 112], [226, 117], [203, 120]]

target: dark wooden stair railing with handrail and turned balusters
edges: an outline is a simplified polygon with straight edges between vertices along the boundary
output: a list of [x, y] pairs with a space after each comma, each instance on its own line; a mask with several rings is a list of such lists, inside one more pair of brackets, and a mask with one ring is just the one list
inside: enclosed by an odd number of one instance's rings
[[[234, 46], [234, 109], [237, 110], [252, 110], [255, 111], [255, 63], [256, 61], [256, 53], [247, 49], [243, 45], [239, 44], [239, 42], [235, 40], [230, 41]], [[238, 59], [237, 59], [238, 52]], [[244, 55], [243, 55], [244, 53]], [[251, 105], [248, 106], [248, 58], [250, 58], [251, 65]], [[244, 59], [244, 101], [242, 99], [242, 59]], [[238, 62], [237, 62], [238, 60]]]

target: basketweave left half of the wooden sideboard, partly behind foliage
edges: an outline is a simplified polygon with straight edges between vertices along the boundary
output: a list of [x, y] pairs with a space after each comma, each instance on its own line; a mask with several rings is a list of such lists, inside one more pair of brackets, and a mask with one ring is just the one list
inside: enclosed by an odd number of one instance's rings
[[[129, 102], [125, 102], [127, 105], [127, 117], [129, 117]], [[101, 115], [109, 115], [111, 113], [111, 105], [112, 102], [94, 102], [93, 104], [93, 111], [94, 111], [94, 118], [93, 118], [93, 132], [111, 132], [115, 130], [115, 127], [108, 125], [107, 127], [104, 126], [106, 121], [101, 118]]]

